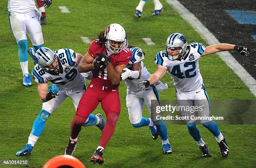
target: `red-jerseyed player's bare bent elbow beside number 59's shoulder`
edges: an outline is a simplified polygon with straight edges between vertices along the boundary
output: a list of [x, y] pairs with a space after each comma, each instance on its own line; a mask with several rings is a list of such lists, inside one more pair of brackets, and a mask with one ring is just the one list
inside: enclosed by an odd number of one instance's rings
[[94, 65], [92, 63], [93, 60], [94, 59], [88, 53], [86, 53], [78, 64], [78, 68], [77, 68], [78, 71], [80, 73], [87, 73], [93, 70], [94, 69]]

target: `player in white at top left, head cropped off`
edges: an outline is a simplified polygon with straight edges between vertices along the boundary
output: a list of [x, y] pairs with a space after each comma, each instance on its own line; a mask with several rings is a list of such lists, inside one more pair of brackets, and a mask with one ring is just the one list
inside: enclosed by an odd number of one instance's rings
[[[41, 25], [38, 21], [41, 13], [35, 0], [8, 0], [10, 28], [18, 45], [18, 58], [23, 73], [23, 85], [31, 86], [32, 80], [28, 73], [28, 42], [26, 32], [31, 40], [34, 51], [44, 47]], [[35, 63], [36, 64], [36, 63]]]

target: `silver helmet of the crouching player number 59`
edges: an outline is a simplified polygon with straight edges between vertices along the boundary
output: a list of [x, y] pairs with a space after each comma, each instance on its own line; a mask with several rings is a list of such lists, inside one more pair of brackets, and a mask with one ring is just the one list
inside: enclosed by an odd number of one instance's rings
[[[35, 57], [37, 59], [37, 64], [40, 65], [45, 72], [53, 75], [59, 75], [59, 73], [63, 73], [63, 68], [59, 58], [50, 48], [39, 48], [36, 50]], [[55, 60], [57, 61], [56, 68], [50, 69], [49, 65], [54, 63]]]

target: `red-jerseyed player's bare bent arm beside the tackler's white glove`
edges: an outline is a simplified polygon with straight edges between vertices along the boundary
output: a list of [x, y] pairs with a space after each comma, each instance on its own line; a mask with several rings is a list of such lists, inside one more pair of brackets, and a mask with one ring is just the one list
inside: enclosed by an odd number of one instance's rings
[[121, 74], [123, 73], [123, 69], [126, 68], [126, 65], [117, 65], [115, 68], [110, 63], [106, 66], [108, 70], [108, 76], [110, 78], [110, 81], [112, 85], [118, 86], [121, 81]]

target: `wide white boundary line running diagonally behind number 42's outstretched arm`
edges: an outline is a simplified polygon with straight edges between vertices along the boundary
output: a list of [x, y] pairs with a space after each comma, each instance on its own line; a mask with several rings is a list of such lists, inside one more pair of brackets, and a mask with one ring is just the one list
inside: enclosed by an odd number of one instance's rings
[[[179, 15], [200, 34], [209, 45], [220, 43], [217, 38], [198, 20], [195, 15], [189, 12], [179, 1], [177, 0], [166, 0], [169, 5], [177, 10]], [[218, 52], [219, 57], [230, 67], [236, 75], [246, 84], [251, 90], [253, 95], [256, 96], [256, 80], [241, 66], [235, 58], [228, 52]]]

